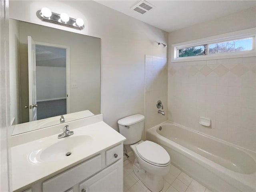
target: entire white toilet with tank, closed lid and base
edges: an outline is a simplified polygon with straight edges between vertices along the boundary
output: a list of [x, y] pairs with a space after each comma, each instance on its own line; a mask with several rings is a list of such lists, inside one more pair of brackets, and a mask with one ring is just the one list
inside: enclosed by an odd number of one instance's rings
[[170, 170], [170, 156], [162, 146], [141, 140], [144, 119], [135, 114], [118, 120], [119, 132], [126, 137], [124, 145], [131, 145], [135, 154], [134, 174], [152, 192], [159, 192], [164, 187], [163, 176]]

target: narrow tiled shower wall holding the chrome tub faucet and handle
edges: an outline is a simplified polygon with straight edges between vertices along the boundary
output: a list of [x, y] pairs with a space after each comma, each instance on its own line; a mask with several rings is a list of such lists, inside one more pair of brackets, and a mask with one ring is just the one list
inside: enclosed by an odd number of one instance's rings
[[[145, 56], [145, 130], [168, 119], [167, 111], [167, 58]], [[166, 115], [158, 113], [156, 103], [162, 101]], [[160, 109], [162, 110], [162, 109]]]

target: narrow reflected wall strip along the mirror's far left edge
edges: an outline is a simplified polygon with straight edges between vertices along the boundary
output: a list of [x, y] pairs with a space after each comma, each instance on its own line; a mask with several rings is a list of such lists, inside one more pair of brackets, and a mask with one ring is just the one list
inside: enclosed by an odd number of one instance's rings
[[11, 20], [9, 23], [9, 47], [10, 47], [10, 117], [11, 123], [21, 122], [20, 114], [20, 57], [19, 57], [19, 28], [18, 22]]

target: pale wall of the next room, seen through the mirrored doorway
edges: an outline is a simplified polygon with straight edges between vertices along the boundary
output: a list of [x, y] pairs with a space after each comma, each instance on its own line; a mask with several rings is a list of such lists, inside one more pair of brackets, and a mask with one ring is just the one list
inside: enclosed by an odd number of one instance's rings
[[36, 66], [36, 100], [66, 98], [66, 67]]

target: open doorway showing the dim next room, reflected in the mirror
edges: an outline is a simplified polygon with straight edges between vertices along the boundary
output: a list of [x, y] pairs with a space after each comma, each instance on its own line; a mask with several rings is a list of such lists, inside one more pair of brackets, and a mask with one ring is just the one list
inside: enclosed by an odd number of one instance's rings
[[66, 49], [36, 44], [37, 120], [67, 114]]

